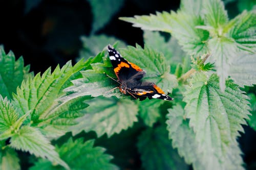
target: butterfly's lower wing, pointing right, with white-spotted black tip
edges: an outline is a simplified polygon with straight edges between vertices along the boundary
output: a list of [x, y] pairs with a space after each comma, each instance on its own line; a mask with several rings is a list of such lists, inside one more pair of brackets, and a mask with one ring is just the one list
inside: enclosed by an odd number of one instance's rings
[[146, 97], [149, 99], [162, 99], [165, 101], [174, 100], [167, 94], [163, 92], [163, 90], [158, 87], [155, 83], [151, 82], [142, 82], [141, 86], [133, 88], [130, 92], [140, 100], [144, 100]]

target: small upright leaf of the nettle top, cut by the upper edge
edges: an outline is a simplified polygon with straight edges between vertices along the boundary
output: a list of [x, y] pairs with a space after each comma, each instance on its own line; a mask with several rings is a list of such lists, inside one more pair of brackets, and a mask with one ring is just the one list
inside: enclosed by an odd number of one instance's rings
[[206, 0], [203, 4], [204, 17], [206, 25], [215, 29], [220, 29], [228, 21], [227, 11], [224, 9], [224, 4], [221, 0]]

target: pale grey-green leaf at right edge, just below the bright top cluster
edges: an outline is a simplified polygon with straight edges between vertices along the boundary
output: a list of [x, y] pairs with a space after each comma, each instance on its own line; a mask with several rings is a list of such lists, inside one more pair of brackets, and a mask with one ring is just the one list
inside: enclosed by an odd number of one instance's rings
[[256, 84], [256, 55], [238, 53], [233, 56], [228, 75], [237, 85], [252, 86]]

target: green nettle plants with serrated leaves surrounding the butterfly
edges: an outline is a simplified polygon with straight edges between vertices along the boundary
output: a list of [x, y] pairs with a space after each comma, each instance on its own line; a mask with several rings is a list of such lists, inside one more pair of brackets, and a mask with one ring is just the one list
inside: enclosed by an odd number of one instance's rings
[[[256, 129], [255, 115], [249, 120], [255, 95], [243, 91], [256, 84], [255, 18], [255, 11], [244, 11], [229, 20], [218, 0], [187, 0], [177, 12], [120, 18], [147, 30], [145, 45], [114, 46], [174, 101], [131, 100], [109, 91], [118, 84], [104, 74], [116, 78], [106, 48], [33, 76], [22, 58], [15, 61], [1, 47], [0, 169], [20, 169], [18, 150], [31, 157], [29, 169], [118, 169], [94, 139], [51, 141], [81, 131], [111, 138], [135, 122], [143, 127], [136, 145], [145, 169], [244, 169], [237, 138], [246, 120]], [[92, 40], [115, 41], [83, 37], [81, 57], [95, 53], [88, 48]]]

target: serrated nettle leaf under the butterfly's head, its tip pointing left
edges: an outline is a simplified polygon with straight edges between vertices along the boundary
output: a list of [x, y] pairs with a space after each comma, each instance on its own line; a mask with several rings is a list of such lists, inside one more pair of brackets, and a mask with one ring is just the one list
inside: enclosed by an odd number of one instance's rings
[[[119, 90], [112, 90], [118, 87], [119, 84], [103, 74], [105, 72], [107, 75], [115, 78], [109, 57], [104, 57], [102, 52], [96, 58], [98, 58], [97, 63], [91, 63], [91, 69], [80, 71], [83, 78], [73, 80], [73, 86], [64, 90], [67, 92], [67, 95], [61, 100], [71, 100], [86, 95], [93, 97], [100, 95], [110, 97], [115, 95], [118, 98], [122, 98], [121, 93], [118, 92]], [[103, 63], [101, 63], [102, 61]]]

